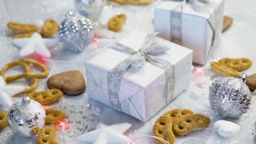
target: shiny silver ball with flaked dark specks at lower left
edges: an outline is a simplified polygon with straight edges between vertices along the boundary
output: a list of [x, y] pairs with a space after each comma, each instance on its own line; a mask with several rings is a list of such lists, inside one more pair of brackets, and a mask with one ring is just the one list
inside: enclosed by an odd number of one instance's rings
[[34, 136], [32, 128], [41, 129], [45, 125], [45, 109], [37, 101], [25, 95], [8, 110], [8, 122], [13, 133], [23, 137]]

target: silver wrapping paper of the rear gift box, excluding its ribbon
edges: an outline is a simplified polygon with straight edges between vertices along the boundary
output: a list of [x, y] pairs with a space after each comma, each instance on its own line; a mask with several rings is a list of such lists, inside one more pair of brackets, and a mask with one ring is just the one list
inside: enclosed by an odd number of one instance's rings
[[[211, 11], [216, 17], [216, 29], [219, 35], [214, 40], [213, 47], [218, 47], [221, 41], [221, 31], [223, 23], [224, 0], [211, 0], [219, 5], [217, 9]], [[155, 32], [161, 32], [159, 37], [170, 40], [171, 36], [171, 11], [179, 5], [172, 0], [164, 0], [155, 7], [154, 28]], [[217, 14], [216, 14], [217, 13]], [[181, 16], [182, 24], [182, 45], [193, 50], [193, 62], [205, 64], [211, 51], [213, 39], [213, 29], [211, 29], [207, 19], [208, 13], [198, 13], [188, 3], [183, 7]]]

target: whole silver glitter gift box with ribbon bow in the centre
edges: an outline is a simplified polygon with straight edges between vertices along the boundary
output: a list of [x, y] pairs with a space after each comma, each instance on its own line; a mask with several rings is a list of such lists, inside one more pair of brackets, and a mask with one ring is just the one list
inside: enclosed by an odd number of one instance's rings
[[86, 61], [88, 96], [146, 122], [190, 82], [192, 50], [133, 31]]

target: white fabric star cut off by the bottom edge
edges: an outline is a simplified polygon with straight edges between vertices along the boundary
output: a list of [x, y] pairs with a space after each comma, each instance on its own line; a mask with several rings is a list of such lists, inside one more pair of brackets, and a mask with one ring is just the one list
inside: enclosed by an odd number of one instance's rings
[[93, 144], [127, 144], [129, 138], [123, 135], [123, 133], [130, 127], [130, 123], [110, 126], [99, 123], [95, 131], [78, 136], [77, 141], [91, 142]]

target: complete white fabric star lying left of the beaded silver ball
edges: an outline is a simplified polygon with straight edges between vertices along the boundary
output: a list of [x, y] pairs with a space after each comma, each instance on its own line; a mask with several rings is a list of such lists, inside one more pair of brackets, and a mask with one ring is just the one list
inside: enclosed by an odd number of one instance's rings
[[50, 58], [51, 52], [48, 50], [48, 47], [56, 46], [59, 40], [42, 38], [39, 33], [35, 32], [30, 38], [17, 38], [13, 39], [12, 42], [13, 45], [21, 48], [19, 53], [21, 57], [37, 52], [47, 58]]

